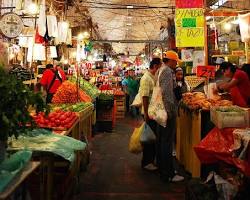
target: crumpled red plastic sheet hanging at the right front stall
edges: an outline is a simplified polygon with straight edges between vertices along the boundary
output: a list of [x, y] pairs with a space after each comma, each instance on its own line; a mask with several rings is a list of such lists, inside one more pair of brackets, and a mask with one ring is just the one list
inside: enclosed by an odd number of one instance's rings
[[241, 160], [233, 157], [234, 130], [234, 128], [214, 128], [194, 147], [194, 150], [203, 164], [224, 161], [236, 166], [246, 176], [250, 176], [250, 160]]

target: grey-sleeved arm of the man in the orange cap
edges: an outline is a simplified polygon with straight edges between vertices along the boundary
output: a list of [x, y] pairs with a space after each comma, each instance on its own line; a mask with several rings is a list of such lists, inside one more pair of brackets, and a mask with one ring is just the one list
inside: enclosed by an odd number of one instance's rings
[[171, 118], [174, 112], [174, 92], [173, 92], [173, 79], [170, 70], [164, 69], [159, 77], [159, 86], [162, 90], [162, 99], [168, 117]]

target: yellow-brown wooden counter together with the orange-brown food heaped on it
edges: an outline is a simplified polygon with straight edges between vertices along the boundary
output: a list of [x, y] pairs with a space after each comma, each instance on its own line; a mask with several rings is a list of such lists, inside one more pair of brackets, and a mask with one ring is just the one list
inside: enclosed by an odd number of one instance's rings
[[176, 156], [193, 177], [200, 177], [200, 161], [194, 151], [206, 134], [214, 127], [210, 121], [210, 107], [230, 106], [228, 100], [206, 99], [201, 92], [186, 93], [179, 106], [176, 132]]

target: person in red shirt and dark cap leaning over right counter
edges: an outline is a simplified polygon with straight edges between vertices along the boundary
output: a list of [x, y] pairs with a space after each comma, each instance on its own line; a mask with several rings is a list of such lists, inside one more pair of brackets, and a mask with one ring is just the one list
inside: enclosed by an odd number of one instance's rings
[[237, 69], [230, 62], [223, 62], [220, 65], [225, 77], [230, 78], [229, 82], [218, 85], [219, 90], [229, 91], [235, 105], [248, 107], [250, 101], [250, 80], [246, 72]]

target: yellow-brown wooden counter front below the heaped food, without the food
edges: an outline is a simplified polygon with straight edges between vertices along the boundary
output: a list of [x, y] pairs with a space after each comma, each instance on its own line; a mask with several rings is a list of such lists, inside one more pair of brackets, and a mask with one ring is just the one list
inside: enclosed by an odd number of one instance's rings
[[176, 131], [176, 156], [193, 177], [201, 176], [201, 164], [194, 146], [213, 128], [209, 111], [179, 109]]

